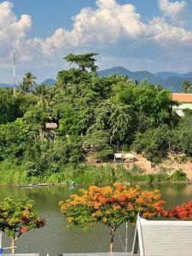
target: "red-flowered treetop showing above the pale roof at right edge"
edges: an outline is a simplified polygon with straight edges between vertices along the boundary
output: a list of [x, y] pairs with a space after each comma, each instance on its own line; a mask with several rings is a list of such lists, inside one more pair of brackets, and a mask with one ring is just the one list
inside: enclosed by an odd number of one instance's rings
[[187, 204], [183, 204], [182, 206], [172, 208], [172, 210], [165, 212], [164, 217], [192, 220], [192, 200]]

